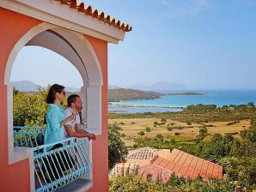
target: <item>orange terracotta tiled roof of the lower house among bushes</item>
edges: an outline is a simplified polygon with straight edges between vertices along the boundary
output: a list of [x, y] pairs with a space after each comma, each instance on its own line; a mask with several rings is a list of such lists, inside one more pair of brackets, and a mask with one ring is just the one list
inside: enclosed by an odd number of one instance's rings
[[[152, 152], [154, 155], [151, 155]], [[129, 157], [129, 155], [130, 159], [127, 159], [126, 163], [115, 165], [112, 174], [117, 172], [121, 173], [122, 170], [126, 171], [128, 167], [130, 167], [131, 170], [134, 166], [138, 165], [139, 175], [145, 178], [151, 175], [153, 180], [155, 180], [158, 175], [161, 175], [163, 183], [167, 182], [168, 178], [173, 173], [177, 177], [191, 179], [202, 177], [204, 180], [212, 178], [222, 180], [222, 165], [214, 164], [208, 160], [198, 158], [178, 149], [174, 149], [170, 152], [169, 150], [156, 150], [146, 147], [131, 151], [127, 157]], [[150, 158], [148, 159], [143, 158], [149, 156]], [[133, 157], [133, 159], [131, 157]]]

